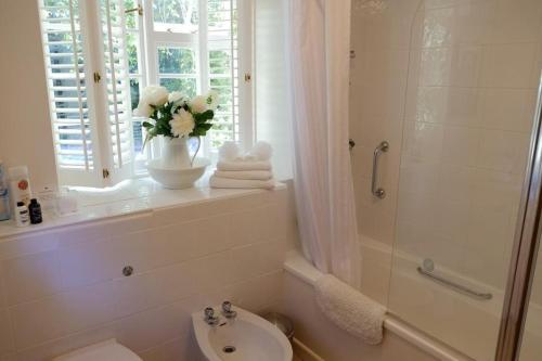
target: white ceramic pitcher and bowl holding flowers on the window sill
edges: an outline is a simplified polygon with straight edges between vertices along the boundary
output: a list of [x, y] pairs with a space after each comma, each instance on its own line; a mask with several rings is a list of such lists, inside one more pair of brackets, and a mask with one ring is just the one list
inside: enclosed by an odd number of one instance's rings
[[167, 189], [182, 190], [194, 186], [194, 182], [202, 178], [210, 162], [195, 158], [195, 154], [191, 156], [186, 138], [166, 137], [163, 144], [162, 157], [149, 162], [149, 175]]

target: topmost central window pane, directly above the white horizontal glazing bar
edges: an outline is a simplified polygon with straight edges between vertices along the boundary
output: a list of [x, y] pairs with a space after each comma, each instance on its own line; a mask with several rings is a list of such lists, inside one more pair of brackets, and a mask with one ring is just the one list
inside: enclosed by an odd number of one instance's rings
[[197, 0], [153, 0], [154, 30], [197, 33]]

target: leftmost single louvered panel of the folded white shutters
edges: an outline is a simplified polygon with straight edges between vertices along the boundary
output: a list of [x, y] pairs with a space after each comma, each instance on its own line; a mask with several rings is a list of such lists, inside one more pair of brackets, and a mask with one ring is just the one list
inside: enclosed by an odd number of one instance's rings
[[77, 0], [41, 0], [53, 140], [61, 183], [95, 185], [81, 9]]

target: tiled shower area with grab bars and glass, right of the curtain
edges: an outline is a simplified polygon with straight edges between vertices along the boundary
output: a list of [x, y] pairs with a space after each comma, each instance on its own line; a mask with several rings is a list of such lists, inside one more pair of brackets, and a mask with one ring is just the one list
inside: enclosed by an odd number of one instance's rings
[[[362, 291], [472, 359], [503, 358], [526, 298], [517, 278], [532, 273], [517, 267], [534, 263], [518, 255], [540, 182], [542, 1], [353, 0], [351, 39]], [[526, 361], [542, 359], [533, 269]]]

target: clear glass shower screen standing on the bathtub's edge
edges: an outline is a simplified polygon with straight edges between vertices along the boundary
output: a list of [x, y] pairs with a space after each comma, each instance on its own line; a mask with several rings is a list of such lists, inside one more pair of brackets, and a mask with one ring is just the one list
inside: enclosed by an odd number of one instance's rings
[[541, 28], [535, 0], [421, 1], [412, 27], [388, 306], [476, 360], [494, 359]]

